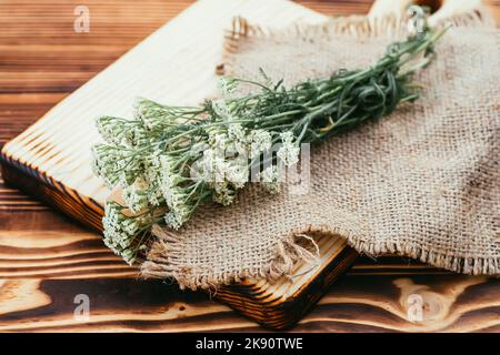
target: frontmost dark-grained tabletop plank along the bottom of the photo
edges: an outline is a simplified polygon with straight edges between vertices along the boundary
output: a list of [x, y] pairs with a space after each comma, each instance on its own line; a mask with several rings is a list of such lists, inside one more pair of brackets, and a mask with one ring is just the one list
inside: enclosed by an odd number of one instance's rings
[[[424, 302], [408, 321], [408, 295]], [[74, 317], [77, 295], [88, 320]], [[130, 277], [20, 278], [0, 282], [0, 332], [263, 332], [203, 293]], [[293, 332], [498, 332], [500, 286], [463, 275], [348, 274]]]

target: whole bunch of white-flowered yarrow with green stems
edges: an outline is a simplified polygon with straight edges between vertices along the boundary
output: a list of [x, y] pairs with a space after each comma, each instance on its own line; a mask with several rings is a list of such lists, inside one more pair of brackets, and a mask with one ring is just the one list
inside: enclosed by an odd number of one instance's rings
[[[132, 119], [99, 118], [106, 143], [93, 146], [94, 171], [120, 194], [106, 204], [106, 244], [133, 263], [153, 224], [177, 230], [200, 204], [230, 205], [252, 174], [270, 193], [279, 193], [280, 166], [297, 164], [300, 144], [416, 100], [411, 74], [431, 61], [443, 32], [427, 29], [389, 45], [370, 68], [289, 89], [262, 71], [262, 82], [223, 78], [222, 99], [200, 106], [140, 99]], [[242, 83], [258, 90], [237, 95]]]

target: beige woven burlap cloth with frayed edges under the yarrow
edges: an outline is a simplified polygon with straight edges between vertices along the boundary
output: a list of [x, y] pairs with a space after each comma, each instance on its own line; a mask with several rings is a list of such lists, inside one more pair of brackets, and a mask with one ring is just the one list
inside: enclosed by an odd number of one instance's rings
[[[468, 26], [451, 29], [416, 78], [426, 88], [420, 100], [311, 148], [309, 193], [269, 195], [249, 184], [236, 204], [202, 206], [179, 232], [157, 227], [143, 275], [190, 288], [273, 280], [313, 258], [304, 236], [313, 232], [340, 234], [374, 256], [499, 274], [500, 37], [483, 16], [454, 22]], [[363, 68], [403, 36], [397, 28], [352, 18], [266, 31], [239, 20], [223, 69], [252, 79], [262, 67], [291, 84]]]

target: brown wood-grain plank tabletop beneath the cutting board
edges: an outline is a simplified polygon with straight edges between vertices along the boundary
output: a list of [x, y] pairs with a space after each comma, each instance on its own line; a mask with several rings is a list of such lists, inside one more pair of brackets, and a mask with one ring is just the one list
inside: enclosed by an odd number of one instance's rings
[[[301, 0], [328, 14], [366, 13], [370, 0]], [[0, 146], [189, 0], [3, 0], [0, 2]], [[488, 1], [499, 18], [500, 1]], [[73, 10], [90, 9], [90, 33]], [[89, 232], [0, 178], [1, 331], [263, 331], [204, 293], [137, 281]], [[89, 321], [73, 317], [90, 298]], [[424, 300], [407, 320], [408, 295]], [[293, 331], [500, 332], [500, 281], [447, 273], [400, 258], [360, 257]]]

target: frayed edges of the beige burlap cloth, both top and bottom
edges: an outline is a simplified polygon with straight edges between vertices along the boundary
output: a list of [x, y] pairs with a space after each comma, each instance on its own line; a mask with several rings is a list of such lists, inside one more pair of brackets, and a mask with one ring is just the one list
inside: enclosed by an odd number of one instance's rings
[[[452, 23], [460, 27], [494, 27], [494, 19], [483, 7], [472, 9], [468, 13], [461, 13], [452, 18], [441, 20], [434, 26]], [[369, 18], [367, 16], [351, 16], [326, 21], [322, 24], [297, 24], [288, 29], [267, 29], [257, 24], [250, 24], [244, 18], [237, 17], [232, 27], [226, 33], [222, 61], [217, 67], [218, 74], [231, 74], [233, 54], [239, 51], [239, 41], [244, 38], [301, 38], [313, 39], [318, 36], [351, 36], [354, 38], [397, 37], [407, 31], [406, 22], [397, 17]], [[289, 276], [298, 262], [318, 264], [319, 247], [309, 236], [311, 233], [332, 234], [344, 237], [349, 245], [359, 253], [377, 256], [381, 254], [396, 254], [420, 260], [438, 267], [464, 274], [500, 274], [500, 257], [463, 257], [447, 255], [432, 250], [422, 248], [406, 243], [368, 243], [362, 234], [352, 234], [336, 227], [304, 226], [302, 230], [291, 230], [288, 235], [277, 235], [274, 257], [267, 267], [257, 272], [250, 270], [234, 271], [222, 277], [209, 276], [197, 267], [182, 262], [179, 247], [182, 245], [182, 236], [167, 229], [154, 226], [153, 234], [157, 240], [151, 244], [147, 261], [141, 265], [141, 275], [144, 278], [173, 278], [180, 288], [213, 290], [220, 285], [228, 285], [243, 278], [264, 278], [269, 282], [282, 276]], [[303, 242], [309, 243], [303, 246]]]

